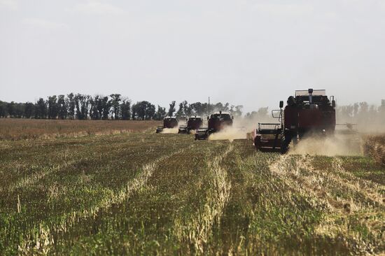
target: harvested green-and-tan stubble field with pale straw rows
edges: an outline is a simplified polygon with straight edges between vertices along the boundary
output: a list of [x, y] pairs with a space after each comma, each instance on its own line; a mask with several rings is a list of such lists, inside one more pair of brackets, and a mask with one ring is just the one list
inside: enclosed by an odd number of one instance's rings
[[385, 253], [373, 157], [262, 153], [156, 123], [34, 139], [0, 124], [0, 255]]

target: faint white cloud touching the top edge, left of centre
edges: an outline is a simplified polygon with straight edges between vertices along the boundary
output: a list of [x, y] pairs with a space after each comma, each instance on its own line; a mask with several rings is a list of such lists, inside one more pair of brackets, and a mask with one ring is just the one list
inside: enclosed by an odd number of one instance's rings
[[105, 15], [105, 14], [122, 14], [125, 13], [120, 7], [113, 6], [110, 3], [102, 3], [101, 1], [89, 0], [86, 3], [78, 3], [72, 9], [74, 12], [86, 13], [92, 15]]

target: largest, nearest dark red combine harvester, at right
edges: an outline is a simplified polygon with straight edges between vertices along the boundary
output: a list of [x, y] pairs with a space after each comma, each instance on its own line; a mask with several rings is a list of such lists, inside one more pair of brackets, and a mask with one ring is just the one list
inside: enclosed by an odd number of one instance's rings
[[297, 143], [305, 135], [323, 136], [335, 132], [335, 99], [325, 90], [298, 90], [288, 97], [284, 111], [272, 111], [279, 123], [258, 123], [254, 131], [255, 148], [261, 151], [286, 153], [291, 141]]

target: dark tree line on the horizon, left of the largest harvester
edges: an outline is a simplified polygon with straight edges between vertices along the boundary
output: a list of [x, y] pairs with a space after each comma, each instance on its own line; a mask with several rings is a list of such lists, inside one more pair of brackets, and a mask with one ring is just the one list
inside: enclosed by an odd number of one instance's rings
[[162, 120], [167, 115], [182, 116], [207, 115], [214, 110], [230, 111], [235, 116], [242, 115], [243, 106], [230, 104], [207, 104], [195, 102], [188, 104], [176, 101], [168, 109], [148, 101], [132, 101], [121, 94], [109, 96], [88, 94], [60, 94], [40, 98], [35, 103], [16, 103], [0, 101], [0, 118], [70, 119], [70, 120]]

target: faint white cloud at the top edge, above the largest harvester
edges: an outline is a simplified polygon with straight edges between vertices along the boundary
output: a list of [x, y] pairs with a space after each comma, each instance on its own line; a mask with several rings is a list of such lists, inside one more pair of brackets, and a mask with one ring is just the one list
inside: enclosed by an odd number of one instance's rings
[[314, 7], [294, 3], [257, 3], [254, 10], [269, 15], [309, 15], [313, 13]]

